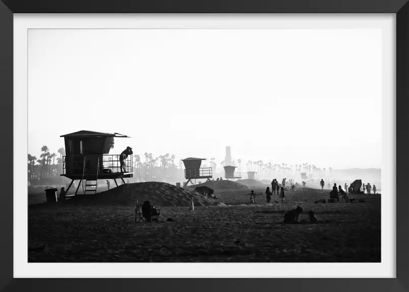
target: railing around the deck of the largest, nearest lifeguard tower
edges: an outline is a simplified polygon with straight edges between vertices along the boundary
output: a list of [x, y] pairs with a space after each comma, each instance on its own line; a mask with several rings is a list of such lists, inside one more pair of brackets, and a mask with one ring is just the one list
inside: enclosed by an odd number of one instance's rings
[[[102, 167], [99, 168], [99, 173], [116, 173], [121, 171], [120, 163], [120, 154], [103, 154], [102, 155]], [[75, 155], [73, 157], [73, 166], [71, 169], [77, 169], [80, 173], [84, 169], [84, 156]], [[133, 172], [133, 161], [132, 155], [129, 155], [126, 159], [123, 160], [125, 166], [122, 167], [125, 173]], [[104, 170], [105, 169], [105, 170]], [[109, 169], [108, 172], [105, 172], [106, 169]], [[76, 172], [76, 171], [75, 171]], [[65, 164], [65, 155], [63, 156], [63, 174], [66, 174], [66, 164]]]

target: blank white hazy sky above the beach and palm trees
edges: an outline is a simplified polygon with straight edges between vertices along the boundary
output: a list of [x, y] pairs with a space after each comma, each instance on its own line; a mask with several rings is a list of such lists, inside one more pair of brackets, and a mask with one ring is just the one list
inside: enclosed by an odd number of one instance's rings
[[29, 153], [381, 166], [380, 30], [30, 30]]

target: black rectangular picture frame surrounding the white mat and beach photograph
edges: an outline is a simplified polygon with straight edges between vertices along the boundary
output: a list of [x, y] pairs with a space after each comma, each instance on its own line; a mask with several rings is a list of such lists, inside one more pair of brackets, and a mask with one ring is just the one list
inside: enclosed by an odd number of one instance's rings
[[[409, 4], [407, 0], [2, 0], [0, 2], [0, 289], [2, 291], [409, 291]], [[396, 13], [396, 279], [13, 279], [13, 13]], [[21, 153], [21, 155], [26, 155]], [[25, 206], [22, 206], [25, 208]]]

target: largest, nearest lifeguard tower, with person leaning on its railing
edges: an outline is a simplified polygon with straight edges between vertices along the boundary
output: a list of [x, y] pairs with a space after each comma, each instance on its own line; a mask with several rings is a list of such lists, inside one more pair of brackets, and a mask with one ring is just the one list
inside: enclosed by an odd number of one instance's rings
[[117, 179], [121, 179], [125, 184], [124, 178], [132, 178], [132, 152], [130, 151], [128, 157], [124, 158], [125, 166], [122, 167], [122, 172], [121, 155], [110, 154], [110, 150], [114, 148], [114, 137], [130, 137], [118, 133], [93, 131], [78, 131], [60, 137], [64, 137], [66, 152], [66, 155], [63, 156], [61, 176], [72, 180], [66, 190], [67, 193], [76, 180], [79, 180], [79, 183], [75, 195], [83, 181], [85, 181], [85, 189], [83, 187], [85, 195], [87, 192], [97, 192], [98, 180], [114, 180], [118, 186]]

